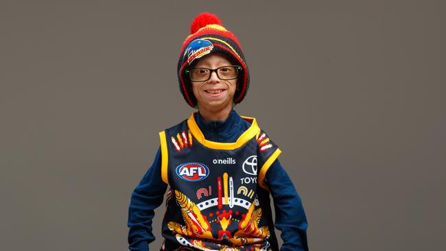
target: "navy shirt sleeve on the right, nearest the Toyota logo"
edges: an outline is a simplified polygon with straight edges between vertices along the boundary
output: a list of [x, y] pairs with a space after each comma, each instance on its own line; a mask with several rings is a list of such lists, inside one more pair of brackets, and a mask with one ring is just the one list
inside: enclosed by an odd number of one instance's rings
[[274, 225], [281, 230], [281, 251], [308, 250], [307, 217], [301, 198], [279, 159], [268, 169], [265, 182], [274, 201]]

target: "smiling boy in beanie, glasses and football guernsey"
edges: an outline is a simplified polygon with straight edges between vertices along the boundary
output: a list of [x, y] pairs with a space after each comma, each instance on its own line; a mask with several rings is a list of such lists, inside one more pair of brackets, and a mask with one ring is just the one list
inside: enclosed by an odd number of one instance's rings
[[154, 163], [132, 193], [130, 250], [148, 250], [154, 241], [154, 208], [167, 185], [161, 250], [277, 251], [274, 223], [282, 231], [282, 251], [308, 250], [307, 220], [277, 159], [281, 151], [254, 118], [233, 110], [248, 90], [248, 67], [237, 38], [217, 16], [193, 20], [178, 80], [198, 112], [160, 132]]

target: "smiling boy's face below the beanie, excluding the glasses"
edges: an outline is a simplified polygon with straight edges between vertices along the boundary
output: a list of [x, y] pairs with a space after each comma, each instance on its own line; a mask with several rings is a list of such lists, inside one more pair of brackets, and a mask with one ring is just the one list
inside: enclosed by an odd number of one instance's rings
[[[217, 69], [218, 67], [226, 67], [229, 65], [231, 65], [231, 62], [226, 60], [226, 58], [218, 54], [210, 54], [200, 58], [194, 68]], [[215, 71], [213, 71], [209, 80], [191, 83], [193, 95], [197, 99], [200, 110], [216, 111], [232, 108], [237, 79], [220, 80]]]

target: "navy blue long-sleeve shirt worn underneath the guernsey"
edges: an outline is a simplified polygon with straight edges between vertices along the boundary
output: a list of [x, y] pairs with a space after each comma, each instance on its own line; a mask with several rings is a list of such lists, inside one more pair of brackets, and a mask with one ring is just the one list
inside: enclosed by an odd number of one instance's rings
[[[225, 121], [204, 121], [196, 117], [198, 127], [209, 141], [220, 143], [235, 142], [250, 127], [250, 123], [231, 110]], [[268, 185], [274, 202], [276, 218], [274, 226], [281, 230], [283, 245], [281, 251], [308, 250], [307, 219], [301, 198], [281, 166], [279, 159], [272, 163], [266, 173]], [[154, 209], [163, 203], [167, 184], [161, 179], [161, 150], [156, 152], [152, 167], [145, 173], [132, 192], [128, 211], [128, 244], [132, 251], [148, 251], [148, 244], [154, 241], [152, 219]]]

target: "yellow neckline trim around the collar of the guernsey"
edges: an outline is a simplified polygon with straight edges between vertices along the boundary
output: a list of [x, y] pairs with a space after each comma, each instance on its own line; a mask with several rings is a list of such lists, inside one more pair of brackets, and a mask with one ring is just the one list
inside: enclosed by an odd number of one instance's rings
[[248, 128], [248, 130], [246, 130], [244, 133], [242, 133], [242, 135], [239, 136], [237, 141], [231, 143], [208, 141], [207, 139], [204, 138], [204, 135], [201, 132], [200, 128], [198, 128], [198, 125], [195, 121], [195, 116], [194, 116], [195, 114], [196, 112], [193, 112], [191, 117], [187, 119], [187, 126], [189, 127], [189, 130], [191, 130], [193, 137], [195, 137], [195, 139], [198, 142], [212, 149], [217, 149], [217, 150], [237, 149], [238, 147], [241, 147], [242, 145], [250, 141], [250, 139], [253, 139], [253, 137], [257, 134], [257, 132], [260, 131], [259, 125], [257, 125], [257, 121], [255, 121], [255, 118], [242, 116], [243, 119], [251, 121], [251, 126]]

